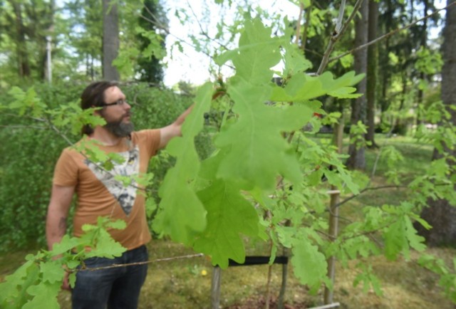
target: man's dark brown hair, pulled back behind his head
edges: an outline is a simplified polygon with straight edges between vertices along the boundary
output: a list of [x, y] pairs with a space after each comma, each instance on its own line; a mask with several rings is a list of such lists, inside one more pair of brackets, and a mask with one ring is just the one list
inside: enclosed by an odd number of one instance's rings
[[[91, 83], [84, 89], [81, 95], [81, 108], [87, 110], [88, 108], [99, 108], [105, 104], [105, 90], [118, 84], [113, 81], [98, 81]], [[93, 133], [93, 127], [90, 125], [83, 125], [82, 134], [90, 135]]]

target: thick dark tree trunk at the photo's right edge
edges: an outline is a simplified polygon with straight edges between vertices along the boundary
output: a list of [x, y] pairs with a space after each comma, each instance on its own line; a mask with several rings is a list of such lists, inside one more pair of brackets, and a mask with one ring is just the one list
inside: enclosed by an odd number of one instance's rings
[[[447, 0], [447, 5], [455, 0]], [[456, 111], [452, 107], [456, 106], [456, 6], [447, 9], [446, 23], [443, 30], [443, 61], [442, 68], [442, 101], [447, 111], [450, 112], [452, 125], [456, 125]], [[445, 149], [450, 156], [456, 156], [456, 150]], [[441, 157], [434, 151], [434, 158]], [[449, 179], [455, 177], [455, 161], [448, 159], [450, 165]], [[456, 189], [456, 188], [455, 188]], [[452, 245], [456, 246], [456, 207], [450, 205], [445, 199], [428, 201], [429, 207], [424, 209], [421, 216], [433, 228], [425, 231], [419, 228], [421, 235], [425, 236], [428, 245]]]

